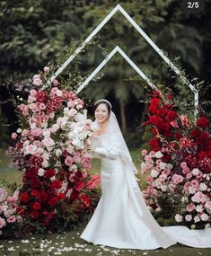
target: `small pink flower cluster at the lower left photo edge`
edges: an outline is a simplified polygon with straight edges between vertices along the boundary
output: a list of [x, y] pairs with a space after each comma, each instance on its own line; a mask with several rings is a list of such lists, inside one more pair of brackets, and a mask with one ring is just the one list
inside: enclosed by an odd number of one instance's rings
[[4, 186], [0, 187], [0, 239], [16, 235], [22, 216], [17, 214], [19, 191], [8, 196]]

